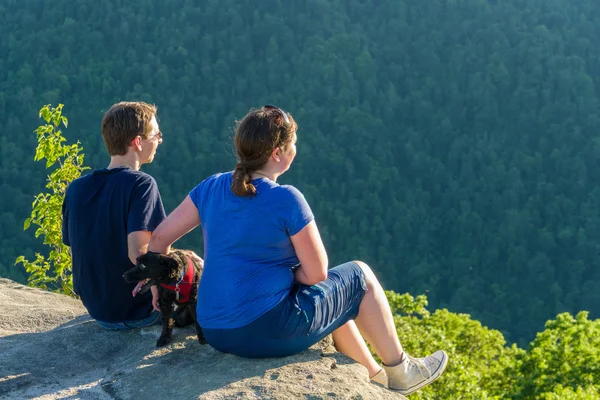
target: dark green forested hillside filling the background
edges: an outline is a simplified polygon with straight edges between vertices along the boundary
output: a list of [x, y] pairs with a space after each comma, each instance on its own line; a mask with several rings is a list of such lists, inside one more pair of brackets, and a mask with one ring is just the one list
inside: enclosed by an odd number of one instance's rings
[[[521, 344], [600, 314], [600, 3], [593, 0], [5, 0], [0, 4], [0, 276], [46, 172], [37, 111], [65, 103], [104, 167], [102, 113], [159, 107], [145, 170], [170, 211], [233, 167], [235, 118], [298, 121], [281, 182], [305, 193], [332, 264], [427, 293]], [[182, 244], [201, 251], [197, 232]]]

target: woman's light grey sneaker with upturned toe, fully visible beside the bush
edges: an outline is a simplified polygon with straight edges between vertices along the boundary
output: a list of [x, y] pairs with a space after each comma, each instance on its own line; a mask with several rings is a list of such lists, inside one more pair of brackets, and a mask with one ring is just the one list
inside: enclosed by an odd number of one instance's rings
[[448, 364], [448, 355], [438, 350], [425, 358], [414, 358], [404, 353], [402, 363], [383, 366], [388, 376], [388, 388], [401, 394], [411, 394], [439, 378]]

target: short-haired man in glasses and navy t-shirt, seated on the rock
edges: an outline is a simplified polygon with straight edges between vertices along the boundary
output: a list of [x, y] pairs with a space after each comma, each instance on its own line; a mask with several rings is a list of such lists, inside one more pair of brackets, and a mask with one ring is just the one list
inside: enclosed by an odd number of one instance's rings
[[[156, 107], [143, 102], [113, 105], [102, 120], [108, 167], [73, 181], [63, 203], [63, 242], [71, 247], [73, 286], [98, 323], [112, 330], [157, 323], [152, 295], [132, 296], [123, 273], [146, 253], [150, 235], [166, 214], [150, 175], [162, 133]], [[155, 290], [155, 288], [153, 288]]]

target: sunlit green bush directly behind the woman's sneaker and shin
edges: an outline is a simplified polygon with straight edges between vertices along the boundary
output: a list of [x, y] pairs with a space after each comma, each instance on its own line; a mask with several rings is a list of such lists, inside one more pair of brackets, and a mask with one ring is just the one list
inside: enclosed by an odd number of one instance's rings
[[448, 369], [437, 383], [413, 393], [411, 400], [510, 399], [520, 360], [525, 353], [506, 346], [499, 331], [482, 326], [467, 314], [446, 309], [430, 313], [427, 297], [386, 291], [398, 337], [408, 354], [423, 357], [448, 353]]

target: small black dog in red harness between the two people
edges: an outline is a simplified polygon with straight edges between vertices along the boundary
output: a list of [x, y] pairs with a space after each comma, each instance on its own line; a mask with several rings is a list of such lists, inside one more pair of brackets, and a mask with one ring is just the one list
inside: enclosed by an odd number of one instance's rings
[[[185, 250], [171, 250], [168, 255], [148, 252], [137, 259], [137, 265], [125, 272], [123, 279], [138, 282], [133, 295], [147, 292], [152, 285], [158, 285], [158, 305], [162, 316], [163, 330], [156, 342], [162, 347], [173, 339], [173, 326], [196, 325], [198, 341], [206, 343], [202, 328], [196, 321], [198, 283], [202, 276], [204, 262], [190, 257]], [[173, 316], [173, 303], [177, 304]]]

